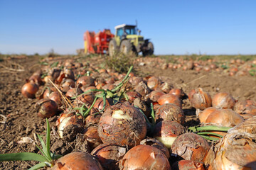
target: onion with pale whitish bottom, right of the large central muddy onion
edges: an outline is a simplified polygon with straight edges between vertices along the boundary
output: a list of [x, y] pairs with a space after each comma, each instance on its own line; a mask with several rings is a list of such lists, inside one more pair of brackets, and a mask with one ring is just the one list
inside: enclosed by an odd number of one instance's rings
[[164, 146], [171, 148], [171, 145], [173, 145], [176, 137], [181, 135], [183, 132], [184, 128], [181, 124], [171, 120], [163, 120], [159, 123], [156, 123], [153, 136], [162, 142]]

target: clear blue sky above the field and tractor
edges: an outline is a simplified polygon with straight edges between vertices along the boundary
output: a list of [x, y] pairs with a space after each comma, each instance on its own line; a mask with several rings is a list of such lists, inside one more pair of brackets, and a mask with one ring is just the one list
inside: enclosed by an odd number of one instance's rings
[[0, 0], [2, 54], [75, 54], [85, 30], [135, 24], [156, 55], [256, 54], [256, 1]]

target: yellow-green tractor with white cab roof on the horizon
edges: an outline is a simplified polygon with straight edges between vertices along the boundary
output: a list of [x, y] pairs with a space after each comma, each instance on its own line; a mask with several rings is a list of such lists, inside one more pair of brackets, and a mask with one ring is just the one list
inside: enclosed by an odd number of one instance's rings
[[137, 26], [122, 24], [114, 28], [115, 35], [108, 46], [110, 56], [114, 55], [114, 52], [122, 52], [124, 55], [131, 53], [138, 55], [139, 52], [142, 52], [143, 56], [153, 55], [153, 43], [149, 39], [144, 40], [144, 37], [140, 35], [141, 31], [136, 29]]

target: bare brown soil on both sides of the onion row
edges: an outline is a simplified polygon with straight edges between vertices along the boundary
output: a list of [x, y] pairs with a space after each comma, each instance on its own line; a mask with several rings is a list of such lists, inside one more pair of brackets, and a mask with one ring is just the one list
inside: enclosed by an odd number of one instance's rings
[[[104, 60], [104, 59], [103, 59]], [[144, 58], [146, 60], [146, 58]], [[45, 135], [46, 120], [39, 118], [33, 108], [38, 99], [29, 99], [21, 95], [21, 86], [35, 72], [38, 57], [20, 57], [1, 61], [0, 65], [0, 154], [14, 152], [35, 152], [38, 140], [36, 134]], [[90, 58], [87, 62], [99, 63], [99, 57]], [[3, 67], [4, 66], [4, 67]], [[3, 69], [5, 68], [5, 69]], [[162, 69], [151, 64], [136, 63], [134, 68], [140, 76], [156, 76], [170, 79], [176, 88], [182, 88], [188, 94], [198, 87], [213, 96], [219, 91], [230, 93], [235, 99], [252, 99], [256, 101], [256, 78], [250, 75], [230, 77], [226, 72], [196, 72], [195, 70]], [[183, 100], [183, 111], [186, 114], [186, 125], [197, 125], [195, 110], [188, 99]], [[56, 135], [55, 121], [58, 115], [49, 119], [51, 130], [51, 151], [57, 154], [87, 151], [86, 142], [77, 137], [73, 142], [60, 140]], [[23, 137], [30, 137], [31, 142], [21, 142]], [[28, 138], [29, 139], [29, 138]], [[43, 137], [43, 139], [45, 139]], [[29, 169], [36, 162], [0, 162], [0, 169]]]

